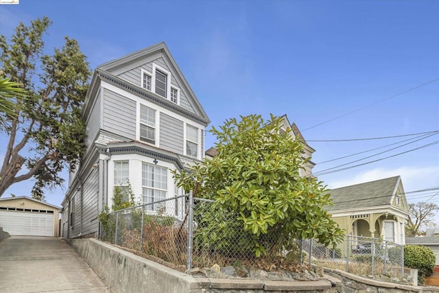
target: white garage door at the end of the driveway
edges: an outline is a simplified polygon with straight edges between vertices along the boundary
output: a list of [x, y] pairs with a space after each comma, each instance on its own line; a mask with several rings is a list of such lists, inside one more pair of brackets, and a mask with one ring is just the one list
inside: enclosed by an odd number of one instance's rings
[[54, 214], [0, 211], [0, 226], [10, 235], [54, 236]]

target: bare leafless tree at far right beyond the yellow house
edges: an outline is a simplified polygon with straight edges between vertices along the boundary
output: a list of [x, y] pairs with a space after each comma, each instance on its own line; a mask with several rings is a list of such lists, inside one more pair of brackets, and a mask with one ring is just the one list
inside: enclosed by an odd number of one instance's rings
[[420, 235], [423, 233], [420, 229], [425, 226], [435, 227], [435, 215], [439, 211], [438, 204], [432, 202], [418, 202], [409, 204], [409, 219], [405, 226], [407, 236]]

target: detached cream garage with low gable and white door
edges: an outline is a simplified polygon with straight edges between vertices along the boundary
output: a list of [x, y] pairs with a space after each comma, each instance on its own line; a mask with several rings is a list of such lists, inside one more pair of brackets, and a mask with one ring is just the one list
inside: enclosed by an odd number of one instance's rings
[[0, 226], [10, 235], [58, 237], [58, 210], [27, 196], [0, 198]]

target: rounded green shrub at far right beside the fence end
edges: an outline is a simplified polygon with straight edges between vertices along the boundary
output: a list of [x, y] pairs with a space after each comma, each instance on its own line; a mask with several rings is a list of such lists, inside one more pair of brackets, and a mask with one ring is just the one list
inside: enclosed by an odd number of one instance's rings
[[431, 248], [419, 245], [404, 246], [404, 265], [409, 268], [417, 268], [419, 281], [423, 277], [429, 277], [433, 274], [436, 256]]

